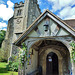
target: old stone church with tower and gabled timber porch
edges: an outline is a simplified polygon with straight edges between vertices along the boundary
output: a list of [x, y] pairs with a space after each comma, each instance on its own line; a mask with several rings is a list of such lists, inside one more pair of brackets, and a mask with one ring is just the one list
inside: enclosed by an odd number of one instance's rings
[[[41, 13], [37, 0], [25, 0], [15, 3], [2, 46], [11, 56], [25, 43], [31, 56], [30, 64], [24, 66], [25, 75], [75, 75], [70, 56], [72, 41], [75, 19], [62, 20], [49, 10]], [[20, 70], [18, 75], [22, 75]]]

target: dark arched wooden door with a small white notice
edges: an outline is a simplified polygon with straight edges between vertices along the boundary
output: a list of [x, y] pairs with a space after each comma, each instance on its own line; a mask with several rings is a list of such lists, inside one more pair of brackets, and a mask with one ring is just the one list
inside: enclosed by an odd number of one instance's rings
[[58, 56], [51, 52], [46, 58], [46, 75], [58, 75]]

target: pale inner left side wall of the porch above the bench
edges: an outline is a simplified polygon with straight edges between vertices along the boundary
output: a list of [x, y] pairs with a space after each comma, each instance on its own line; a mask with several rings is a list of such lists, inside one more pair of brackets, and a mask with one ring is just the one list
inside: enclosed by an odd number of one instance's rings
[[[30, 49], [32, 50], [32, 48]], [[33, 54], [30, 55], [30, 64], [26, 62], [26, 64], [21, 68], [21, 65], [19, 65], [18, 75], [24, 75], [30, 74], [38, 69], [38, 51], [33, 49]]]

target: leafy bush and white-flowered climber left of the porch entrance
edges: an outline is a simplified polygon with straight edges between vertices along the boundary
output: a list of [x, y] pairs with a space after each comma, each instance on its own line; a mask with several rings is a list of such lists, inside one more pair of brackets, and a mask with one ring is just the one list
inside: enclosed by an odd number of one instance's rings
[[21, 65], [21, 68], [24, 66], [24, 63], [28, 60], [27, 57], [27, 47], [26, 45], [23, 43], [22, 44], [22, 49], [20, 49], [19, 52], [19, 57], [12, 55], [11, 61], [9, 61], [9, 64], [7, 65], [7, 69], [8, 71], [18, 71], [18, 66], [19, 64]]

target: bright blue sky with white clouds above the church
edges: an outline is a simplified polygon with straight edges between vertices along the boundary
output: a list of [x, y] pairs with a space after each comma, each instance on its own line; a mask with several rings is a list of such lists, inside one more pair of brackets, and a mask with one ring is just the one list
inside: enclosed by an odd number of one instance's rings
[[[14, 3], [24, 0], [0, 0], [0, 30], [7, 30], [8, 20], [14, 14]], [[61, 19], [75, 19], [75, 0], [38, 0], [43, 13], [49, 9]]]

